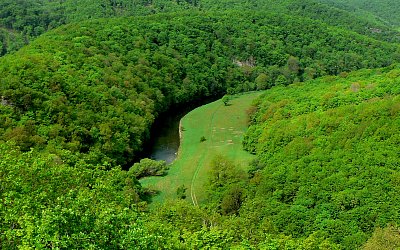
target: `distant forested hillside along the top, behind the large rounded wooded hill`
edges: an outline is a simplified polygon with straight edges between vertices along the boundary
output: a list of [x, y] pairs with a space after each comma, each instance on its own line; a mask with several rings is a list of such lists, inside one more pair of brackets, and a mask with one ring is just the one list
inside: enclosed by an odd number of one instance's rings
[[[322, 3], [324, 1], [327, 4]], [[184, 10], [241, 11], [246, 9], [279, 12], [291, 16], [319, 20], [329, 25], [345, 27], [379, 40], [400, 41], [399, 31], [390, 27], [387, 20], [382, 21], [371, 14], [373, 12], [354, 11], [349, 6], [332, 4], [332, 1], [327, 0], [266, 0], [251, 2], [244, 0], [1, 0], [0, 56], [16, 51], [44, 32], [67, 23], [88, 19], [145, 16]], [[396, 13], [396, 11], [396, 9], [391, 9], [391, 14]]]

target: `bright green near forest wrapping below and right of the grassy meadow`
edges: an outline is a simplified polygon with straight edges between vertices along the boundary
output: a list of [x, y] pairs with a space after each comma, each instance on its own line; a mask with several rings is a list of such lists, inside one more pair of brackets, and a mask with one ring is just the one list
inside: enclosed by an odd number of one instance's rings
[[1, 144], [2, 248], [357, 249], [375, 230], [366, 249], [385, 249], [379, 237], [398, 238], [378, 227], [399, 223], [399, 76], [396, 66], [267, 91], [244, 141], [258, 159], [248, 174], [214, 159], [204, 208], [149, 213], [134, 169]]

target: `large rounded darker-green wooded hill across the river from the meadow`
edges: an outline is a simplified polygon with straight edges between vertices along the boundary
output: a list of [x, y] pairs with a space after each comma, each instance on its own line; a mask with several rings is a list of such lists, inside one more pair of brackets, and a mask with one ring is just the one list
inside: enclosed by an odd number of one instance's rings
[[1, 59], [0, 139], [129, 165], [173, 105], [398, 59], [395, 44], [276, 13], [70, 24]]

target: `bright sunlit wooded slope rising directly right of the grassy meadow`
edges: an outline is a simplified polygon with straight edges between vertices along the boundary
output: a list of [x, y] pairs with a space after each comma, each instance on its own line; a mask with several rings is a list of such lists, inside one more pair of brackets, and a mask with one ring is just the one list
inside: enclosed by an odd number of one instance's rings
[[240, 215], [343, 249], [398, 225], [399, 75], [363, 70], [266, 92], [243, 142], [257, 160]]

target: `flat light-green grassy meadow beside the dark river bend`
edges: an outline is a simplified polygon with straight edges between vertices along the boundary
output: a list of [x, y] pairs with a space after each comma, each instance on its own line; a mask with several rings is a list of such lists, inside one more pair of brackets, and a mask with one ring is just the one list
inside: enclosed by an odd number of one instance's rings
[[[247, 109], [260, 92], [233, 96], [229, 106], [221, 100], [201, 106], [181, 120], [181, 147], [167, 176], [141, 180], [144, 187], [160, 191], [155, 203], [176, 199], [176, 190], [184, 185], [187, 200], [195, 205], [205, 199], [209, 163], [216, 155], [224, 155], [246, 168], [252, 155], [242, 148], [247, 128]], [[200, 142], [204, 136], [206, 141]]]

